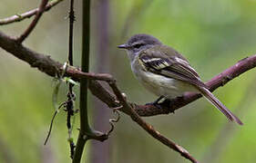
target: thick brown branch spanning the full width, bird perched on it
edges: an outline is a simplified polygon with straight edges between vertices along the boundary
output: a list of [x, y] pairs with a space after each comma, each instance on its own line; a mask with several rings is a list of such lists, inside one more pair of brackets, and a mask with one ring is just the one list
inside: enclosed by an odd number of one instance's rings
[[[14, 38], [11, 38], [1, 32], [0, 47], [5, 49], [5, 51], [9, 53], [12, 53], [20, 60], [27, 62], [32, 67], [36, 67], [41, 72], [45, 72], [52, 77], [58, 76], [60, 72], [63, 71], [63, 65], [60, 62], [52, 60], [48, 55], [36, 53], [35, 51], [26, 48], [26, 46], [16, 43]], [[241, 73], [251, 70], [255, 66], [256, 54], [252, 55], [251, 57], [242, 59], [240, 62], [237, 62], [235, 65], [231, 66], [224, 72], [221, 72], [219, 75], [212, 78], [210, 82], [207, 82], [207, 85], [210, 88], [210, 91], [214, 91], [220, 86], [225, 85], [227, 82], [230, 82], [230, 80], [238, 77], [239, 75], [241, 75]], [[81, 72], [73, 67], [69, 67], [65, 75], [72, 77], [72, 79], [74, 79], [75, 81], [79, 81], [80, 79], [84, 78], [106, 82], [115, 81], [113, 77], [108, 73]], [[114, 95], [111, 94], [104, 87], [100, 86], [100, 83], [98, 83], [97, 81], [91, 81], [89, 88], [92, 93], [97, 96], [97, 98], [107, 103], [109, 107], [117, 106], [117, 101]], [[155, 116], [159, 114], [169, 114], [170, 112], [178, 110], [179, 108], [187, 105], [189, 102], [196, 101], [200, 97], [200, 94], [197, 93], [187, 93], [182, 98], [174, 99], [173, 101], [171, 101], [171, 103], [169, 103], [168, 101], [164, 101], [163, 103], [161, 103], [162, 109], [156, 108], [153, 105], [138, 104], [133, 104], [133, 108], [138, 112], [139, 116]], [[122, 111], [126, 112], [126, 110]]]

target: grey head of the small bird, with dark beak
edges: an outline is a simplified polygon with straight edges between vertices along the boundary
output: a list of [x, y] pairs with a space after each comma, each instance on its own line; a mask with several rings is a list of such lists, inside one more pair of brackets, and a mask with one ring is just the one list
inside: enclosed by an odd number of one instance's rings
[[154, 45], [161, 44], [159, 40], [148, 34], [135, 34], [127, 43], [118, 45], [118, 48], [126, 49], [128, 51], [129, 58], [133, 58], [142, 50], [153, 47]]

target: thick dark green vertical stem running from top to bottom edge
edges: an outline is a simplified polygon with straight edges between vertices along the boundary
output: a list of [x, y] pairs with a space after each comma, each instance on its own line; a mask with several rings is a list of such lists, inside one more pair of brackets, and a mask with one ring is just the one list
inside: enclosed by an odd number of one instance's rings
[[[82, 18], [82, 72], [89, 70], [89, 39], [90, 39], [90, 0], [83, 0], [83, 18]], [[80, 81], [80, 130], [77, 139], [77, 146], [73, 158], [73, 163], [80, 162], [85, 144], [87, 142], [87, 134], [92, 133], [89, 127], [87, 115], [87, 79]]]

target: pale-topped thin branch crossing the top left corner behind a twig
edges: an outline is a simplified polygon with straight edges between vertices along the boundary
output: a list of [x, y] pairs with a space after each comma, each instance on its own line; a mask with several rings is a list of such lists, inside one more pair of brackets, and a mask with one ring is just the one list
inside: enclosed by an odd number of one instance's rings
[[[57, 5], [58, 3], [62, 2], [63, 0], [53, 0], [51, 2], [49, 2], [47, 5], [46, 5], [46, 8], [45, 8], [45, 12], [50, 10], [53, 6]], [[4, 25], [4, 24], [12, 24], [12, 23], [15, 23], [15, 22], [20, 22], [26, 18], [30, 18], [31, 16], [35, 15], [36, 12], [38, 12], [39, 8], [35, 8], [33, 10], [30, 10], [26, 13], [23, 13], [23, 14], [15, 14], [15, 15], [12, 15], [10, 17], [6, 17], [4, 19], [0, 19], [0, 25]]]

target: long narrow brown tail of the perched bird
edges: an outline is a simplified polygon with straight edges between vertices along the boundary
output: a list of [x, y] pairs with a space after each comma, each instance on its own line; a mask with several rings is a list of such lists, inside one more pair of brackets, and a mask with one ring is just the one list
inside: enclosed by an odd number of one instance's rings
[[237, 118], [228, 108], [226, 108], [207, 88], [199, 87], [199, 91], [202, 95], [210, 101], [218, 110], [220, 110], [229, 120], [236, 121], [238, 124], [243, 123]]

